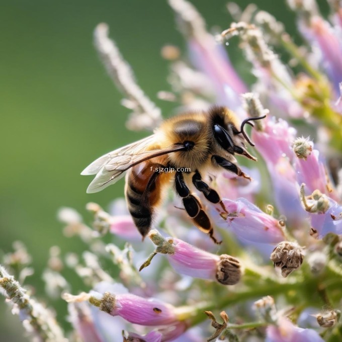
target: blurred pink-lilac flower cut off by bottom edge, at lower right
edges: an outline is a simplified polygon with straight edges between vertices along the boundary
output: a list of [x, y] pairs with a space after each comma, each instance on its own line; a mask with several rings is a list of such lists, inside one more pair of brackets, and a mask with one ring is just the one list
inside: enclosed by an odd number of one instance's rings
[[278, 325], [266, 329], [266, 342], [323, 342], [322, 337], [313, 329], [303, 329], [281, 317]]

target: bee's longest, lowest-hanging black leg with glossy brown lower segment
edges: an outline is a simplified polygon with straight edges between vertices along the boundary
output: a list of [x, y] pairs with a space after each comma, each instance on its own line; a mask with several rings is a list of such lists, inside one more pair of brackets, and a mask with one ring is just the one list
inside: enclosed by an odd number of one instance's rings
[[208, 215], [202, 209], [200, 200], [190, 193], [190, 190], [184, 181], [183, 174], [179, 171], [176, 172], [175, 185], [177, 194], [183, 198], [183, 205], [186, 212], [192, 218], [196, 226], [203, 232], [209, 234], [215, 243], [221, 243], [222, 241], [218, 242], [213, 236], [213, 227]]

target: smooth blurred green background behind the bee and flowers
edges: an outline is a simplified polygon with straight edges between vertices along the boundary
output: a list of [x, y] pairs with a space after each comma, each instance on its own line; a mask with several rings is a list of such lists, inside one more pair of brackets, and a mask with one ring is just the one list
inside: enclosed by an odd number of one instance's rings
[[[244, 8], [248, 2], [240, 0]], [[257, 0], [295, 32], [295, 21], [285, 1]], [[193, 1], [208, 28], [225, 29], [231, 18], [225, 0]], [[27, 280], [38, 298], [46, 298], [41, 272], [49, 247], [81, 252], [78, 238], [65, 238], [56, 212], [71, 206], [85, 214], [87, 202], [106, 205], [123, 195], [123, 181], [98, 194], [87, 195], [90, 177], [79, 173], [96, 157], [147, 133], [126, 130], [129, 112], [93, 48], [95, 26], [106, 22], [111, 37], [132, 65], [138, 83], [153, 100], [169, 90], [167, 62], [160, 48], [185, 43], [175, 26], [174, 14], [162, 0], [117, 1], [2, 1], [0, 11], [1, 177], [0, 249], [12, 250], [15, 240], [25, 242], [33, 257], [35, 275]], [[239, 72], [237, 41], [229, 54]], [[156, 101], [164, 116], [173, 104]], [[70, 280], [70, 279], [69, 279]], [[73, 280], [70, 280], [71, 283]], [[78, 291], [77, 287], [72, 289]], [[64, 318], [66, 304], [51, 303]], [[0, 340], [21, 341], [21, 324], [0, 298]]]

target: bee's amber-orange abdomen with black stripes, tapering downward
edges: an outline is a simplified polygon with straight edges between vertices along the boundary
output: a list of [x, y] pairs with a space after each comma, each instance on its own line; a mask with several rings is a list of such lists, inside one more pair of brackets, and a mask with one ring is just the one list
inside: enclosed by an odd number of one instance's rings
[[127, 206], [140, 234], [145, 237], [151, 228], [154, 208], [160, 203], [162, 186], [171, 173], [157, 172], [162, 166], [151, 160], [133, 166], [126, 177]]

